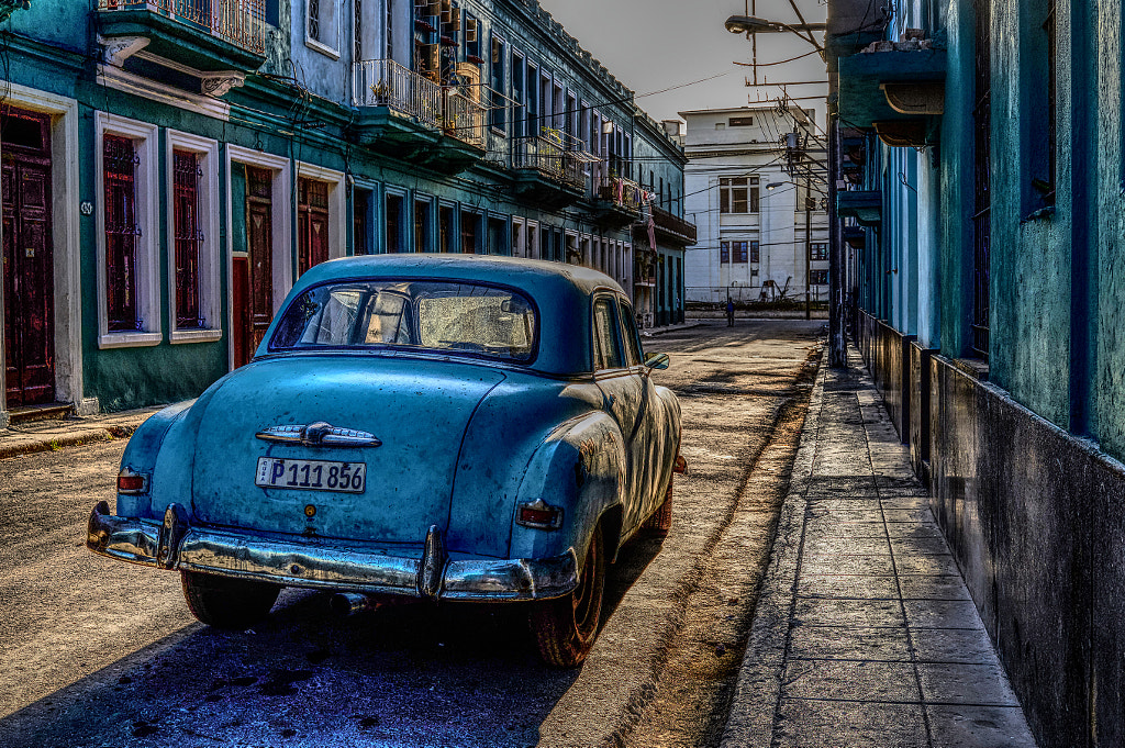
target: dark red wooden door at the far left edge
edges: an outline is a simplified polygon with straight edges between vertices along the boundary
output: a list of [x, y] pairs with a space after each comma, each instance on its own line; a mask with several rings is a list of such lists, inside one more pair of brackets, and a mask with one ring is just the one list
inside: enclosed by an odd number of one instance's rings
[[51, 142], [46, 115], [0, 112], [8, 407], [55, 399]]

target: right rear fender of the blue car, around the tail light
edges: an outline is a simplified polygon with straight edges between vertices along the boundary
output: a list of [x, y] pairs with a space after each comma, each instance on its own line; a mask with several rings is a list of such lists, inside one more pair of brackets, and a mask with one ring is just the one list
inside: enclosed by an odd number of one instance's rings
[[[606, 413], [588, 413], [554, 429], [532, 456], [512, 506], [511, 557], [547, 558], [574, 548], [583, 558], [602, 516], [621, 508], [624, 466], [624, 440]], [[562, 510], [558, 529], [515, 522], [520, 504], [540, 499]], [[616, 537], [606, 538], [613, 550], [616, 543]]]

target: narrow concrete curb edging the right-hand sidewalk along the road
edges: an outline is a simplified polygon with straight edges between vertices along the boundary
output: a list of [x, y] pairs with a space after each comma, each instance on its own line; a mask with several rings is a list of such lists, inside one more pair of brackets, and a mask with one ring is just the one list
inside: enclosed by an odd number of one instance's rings
[[774, 718], [781, 695], [785, 641], [796, 595], [798, 560], [801, 553], [804, 510], [808, 503], [812, 463], [817, 452], [817, 432], [825, 393], [822, 363], [809, 398], [809, 411], [801, 429], [801, 445], [793, 461], [789, 493], [777, 517], [777, 533], [770, 566], [762, 580], [762, 593], [754, 610], [750, 638], [739, 668], [731, 697], [730, 713], [722, 732], [721, 748], [767, 747], [773, 741]]

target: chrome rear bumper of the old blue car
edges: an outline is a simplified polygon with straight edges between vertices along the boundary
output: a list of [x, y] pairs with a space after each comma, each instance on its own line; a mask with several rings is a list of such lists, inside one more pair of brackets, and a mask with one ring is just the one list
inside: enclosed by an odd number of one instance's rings
[[578, 586], [574, 549], [544, 559], [451, 560], [430, 528], [421, 558], [255, 538], [196, 525], [179, 504], [164, 521], [119, 517], [100, 502], [87, 547], [96, 553], [162, 569], [204, 571], [286, 587], [392, 594], [430, 600], [521, 601], [561, 597]]

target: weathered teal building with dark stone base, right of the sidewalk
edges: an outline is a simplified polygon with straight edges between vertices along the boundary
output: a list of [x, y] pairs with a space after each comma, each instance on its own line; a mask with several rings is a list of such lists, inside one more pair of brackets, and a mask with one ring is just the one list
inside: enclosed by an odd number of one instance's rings
[[828, 7], [840, 327], [1040, 745], [1123, 745], [1123, 6]]

